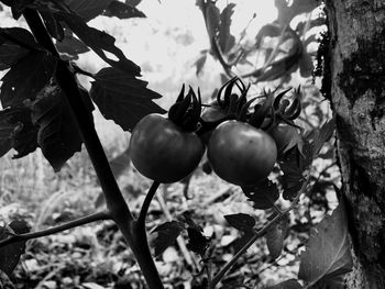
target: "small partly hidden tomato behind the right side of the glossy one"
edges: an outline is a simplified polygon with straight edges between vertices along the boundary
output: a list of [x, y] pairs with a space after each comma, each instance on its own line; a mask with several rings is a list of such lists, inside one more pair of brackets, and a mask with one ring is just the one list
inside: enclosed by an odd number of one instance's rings
[[280, 123], [268, 131], [268, 134], [274, 138], [277, 146], [278, 156], [282, 156], [285, 151], [294, 147], [300, 141], [299, 133], [296, 127], [286, 123]]

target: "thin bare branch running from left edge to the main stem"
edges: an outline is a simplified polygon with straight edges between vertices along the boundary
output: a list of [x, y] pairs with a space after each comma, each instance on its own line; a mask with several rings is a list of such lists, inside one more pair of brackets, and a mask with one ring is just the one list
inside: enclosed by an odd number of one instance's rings
[[42, 237], [42, 236], [47, 236], [47, 235], [52, 235], [58, 232], [63, 232], [66, 231], [68, 229], [73, 229], [76, 226], [80, 226], [80, 225], [85, 225], [88, 223], [92, 223], [96, 221], [102, 221], [102, 220], [111, 220], [111, 215], [109, 212], [107, 211], [102, 211], [102, 212], [97, 212], [95, 214], [90, 214], [90, 215], [86, 215], [84, 218], [70, 221], [68, 223], [62, 224], [62, 225], [57, 225], [57, 226], [53, 226], [46, 230], [42, 230], [42, 231], [37, 231], [37, 232], [32, 232], [32, 233], [25, 233], [25, 234], [13, 234], [11, 237], [6, 238], [0, 241], [0, 247], [20, 242], [20, 241], [28, 241], [31, 238], [36, 238], [36, 237]]

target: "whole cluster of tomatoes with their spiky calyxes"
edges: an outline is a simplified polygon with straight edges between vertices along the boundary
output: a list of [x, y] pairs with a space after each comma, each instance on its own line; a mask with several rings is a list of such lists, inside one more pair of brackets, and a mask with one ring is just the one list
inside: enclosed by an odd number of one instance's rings
[[[235, 87], [240, 93], [233, 92]], [[195, 170], [207, 146], [209, 164], [220, 178], [244, 187], [265, 179], [298, 134], [293, 116], [300, 108], [283, 101], [284, 91], [276, 98], [267, 93], [251, 112], [255, 99], [246, 100], [248, 90], [231, 79], [201, 113], [199, 91], [197, 97], [190, 88], [185, 97], [183, 87], [168, 118], [148, 114], [132, 131], [135, 168], [160, 182], [178, 181]]]

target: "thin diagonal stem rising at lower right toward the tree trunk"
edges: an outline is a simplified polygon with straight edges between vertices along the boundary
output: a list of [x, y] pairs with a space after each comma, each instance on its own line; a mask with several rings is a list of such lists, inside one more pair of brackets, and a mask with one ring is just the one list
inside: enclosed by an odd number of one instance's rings
[[212, 278], [211, 280], [211, 289], [216, 288], [216, 286], [219, 284], [219, 281], [224, 277], [224, 275], [231, 269], [231, 267], [235, 264], [235, 262], [249, 249], [249, 247], [251, 245], [253, 245], [255, 243], [255, 241], [257, 238], [260, 238], [261, 236], [263, 236], [267, 230], [274, 225], [275, 223], [277, 223], [280, 218], [283, 218], [285, 214], [287, 214], [289, 211], [293, 210], [293, 208], [296, 205], [296, 203], [299, 201], [300, 196], [302, 194], [302, 192], [306, 190], [307, 185], [309, 184], [310, 178], [308, 178], [302, 187], [300, 188], [299, 192], [297, 193], [296, 198], [293, 200], [292, 204], [285, 209], [282, 214], [277, 213], [276, 216], [274, 216], [263, 229], [261, 229], [260, 231], [255, 231], [254, 235], [251, 236], [251, 238], [249, 240], [249, 242], [242, 247], [240, 248], [239, 252], [237, 252], [237, 254], [232, 257], [231, 260], [229, 260], [228, 264], [224, 265], [224, 267]]

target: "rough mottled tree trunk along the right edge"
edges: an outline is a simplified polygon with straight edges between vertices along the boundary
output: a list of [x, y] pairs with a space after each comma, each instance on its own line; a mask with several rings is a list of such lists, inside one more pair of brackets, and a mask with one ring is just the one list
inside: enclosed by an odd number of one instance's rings
[[348, 288], [385, 288], [385, 1], [326, 1], [329, 82], [349, 203]]

